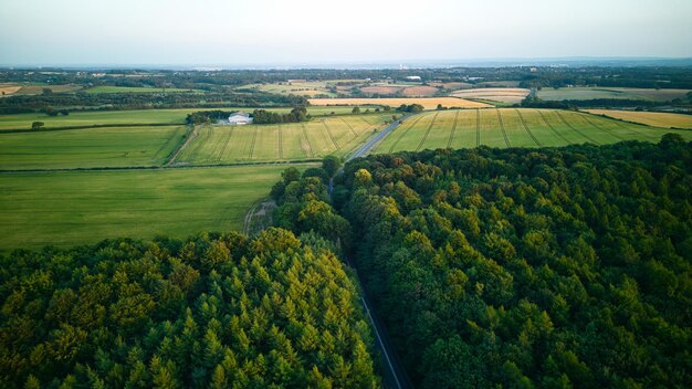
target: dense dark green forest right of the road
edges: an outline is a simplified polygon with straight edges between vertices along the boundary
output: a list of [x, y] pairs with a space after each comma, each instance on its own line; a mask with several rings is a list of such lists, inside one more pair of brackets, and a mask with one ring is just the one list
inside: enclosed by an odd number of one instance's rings
[[[296, 182], [290, 219], [321, 219]], [[692, 144], [667, 135], [370, 156], [333, 198], [416, 385], [684, 388], [691, 190]]]

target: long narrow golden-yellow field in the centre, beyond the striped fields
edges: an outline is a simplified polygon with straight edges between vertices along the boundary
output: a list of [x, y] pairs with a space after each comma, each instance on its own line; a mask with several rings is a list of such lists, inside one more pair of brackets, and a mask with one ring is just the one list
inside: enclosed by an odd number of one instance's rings
[[487, 108], [489, 104], [471, 102], [457, 97], [418, 97], [418, 98], [311, 98], [311, 105], [389, 105], [398, 107], [401, 104], [420, 104], [426, 109], [434, 109], [438, 104], [448, 108]]

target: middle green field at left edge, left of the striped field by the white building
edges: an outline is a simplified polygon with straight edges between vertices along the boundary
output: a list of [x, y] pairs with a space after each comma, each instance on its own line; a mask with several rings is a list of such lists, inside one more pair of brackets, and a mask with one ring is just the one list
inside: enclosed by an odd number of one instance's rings
[[185, 126], [0, 134], [0, 170], [160, 166]]

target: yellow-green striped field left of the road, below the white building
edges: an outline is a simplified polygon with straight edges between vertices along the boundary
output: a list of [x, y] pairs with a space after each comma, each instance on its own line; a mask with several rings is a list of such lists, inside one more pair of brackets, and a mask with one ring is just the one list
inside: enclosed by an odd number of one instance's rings
[[391, 120], [391, 114], [316, 117], [281, 125], [203, 126], [174, 164], [213, 165], [345, 156]]

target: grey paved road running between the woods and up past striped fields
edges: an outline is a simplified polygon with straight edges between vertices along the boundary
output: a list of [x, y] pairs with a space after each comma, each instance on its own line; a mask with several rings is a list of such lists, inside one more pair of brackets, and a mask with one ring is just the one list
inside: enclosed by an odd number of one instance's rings
[[[365, 145], [360, 146], [356, 151], [354, 151], [348, 158], [346, 158], [346, 162], [363, 157], [368, 154], [373, 147], [375, 147], [379, 141], [381, 141], [386, 136], [389, 135], [395, 128], [399, 127], [399, 125], [411, 117], [412, 115], [407, 115], [401, 117], [399, 120], [396, 120], [385, 127], [379, 134], [377, 134], [373, 139], [368, 140]], [[340, 175], [344, 172], [344, 168], [339, 169], [336, 175]], [[334, 179], [329, 180], [329, 195], [332, 195], [332, 190], [334, 189]], [[358, 275], [357, 269], [350, 263], [348, 257], [345, 257], [346, 264], [356, 272], [356, 276]], [[375, 338], [377, 340], [377, 348], [379, 349], [382, 358], [382, 366], [385, 367], [385, 383], [389, 388], [412, 388], [410, 379], [406, 374], [406, 370], [402, 367], [401, 361], [399, 360], [396, 351], [389, 345], [389, 336], [387, 334], [387, 329], [381, 324], [377, 314], [370, 308], [371, 304], [368, 301], [367, 293], [365, 287], [361, 285], [360, 290], [363, 291], [363, 297], [360, 297], [360, 303], [365, 308], [365, 313], [368, 315], [370, 319], [370, 324], [373, 325], [373, 330], [375, 332]]]

